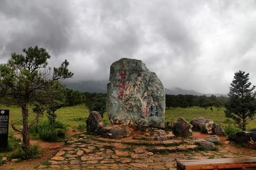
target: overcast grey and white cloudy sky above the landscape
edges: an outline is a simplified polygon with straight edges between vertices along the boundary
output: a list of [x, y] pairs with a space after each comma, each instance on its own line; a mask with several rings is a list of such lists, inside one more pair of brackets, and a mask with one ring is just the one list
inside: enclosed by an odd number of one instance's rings
[[108, 80], [125, 57], [165, 88], [226, 94], [238, 70], [256, 85], [256, 0], [1, 0], [0, 63], [36, 45], [72, 82]]

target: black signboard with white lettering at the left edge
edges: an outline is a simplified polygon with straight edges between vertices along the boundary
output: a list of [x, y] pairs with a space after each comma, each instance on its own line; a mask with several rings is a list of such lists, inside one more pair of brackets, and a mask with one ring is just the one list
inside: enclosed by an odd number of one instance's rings
[[8, 145], [9, 110], [0, 110], [0, 148]]

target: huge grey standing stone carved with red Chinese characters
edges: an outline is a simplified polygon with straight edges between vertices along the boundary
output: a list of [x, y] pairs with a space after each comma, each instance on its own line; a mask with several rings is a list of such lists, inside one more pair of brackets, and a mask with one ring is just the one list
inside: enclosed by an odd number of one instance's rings
[[111, 65], [106, 102], [111, 123], [165, 127], [164, 86], [141, 60], [123, 58]]

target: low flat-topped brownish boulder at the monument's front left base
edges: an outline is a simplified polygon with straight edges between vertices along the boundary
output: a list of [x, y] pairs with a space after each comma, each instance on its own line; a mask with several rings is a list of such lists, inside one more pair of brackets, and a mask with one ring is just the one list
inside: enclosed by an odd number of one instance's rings
[[126, 124], [110, 124], [101, 128], [101, 137], [107, 137], [112, 139], [128, 137], [131, 135], [131, 131]]

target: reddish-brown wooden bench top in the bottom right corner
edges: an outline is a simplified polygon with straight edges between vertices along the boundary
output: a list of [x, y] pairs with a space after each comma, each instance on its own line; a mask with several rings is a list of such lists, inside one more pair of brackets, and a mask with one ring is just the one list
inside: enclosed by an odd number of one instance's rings
[[256, 157], [177, 160], [177, 170], [256, 170]]

